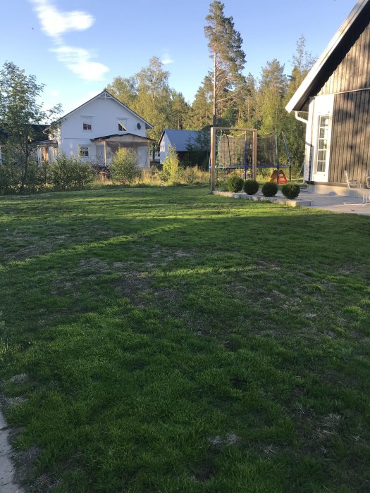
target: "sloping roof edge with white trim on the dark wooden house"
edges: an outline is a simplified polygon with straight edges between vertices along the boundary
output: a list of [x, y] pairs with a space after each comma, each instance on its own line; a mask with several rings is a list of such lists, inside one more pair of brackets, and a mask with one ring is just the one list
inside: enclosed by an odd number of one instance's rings
[[322, 85], [331, 75], [333, 69], [338, 65], [338, 59], [341, 60], [345, 54], [343, 49], [352, 33], [356, 31], [359, 19], [370, 15], [370, 0], [359, 0], [352, 8], [343, 24], [340, 26], [335, 35], [309, 71], [300, 87], [298, 87], [292, 99], [285, 106], [286, 111], [307, 111], [307, 102], [309, 97], [315, 96], [321, 89]]

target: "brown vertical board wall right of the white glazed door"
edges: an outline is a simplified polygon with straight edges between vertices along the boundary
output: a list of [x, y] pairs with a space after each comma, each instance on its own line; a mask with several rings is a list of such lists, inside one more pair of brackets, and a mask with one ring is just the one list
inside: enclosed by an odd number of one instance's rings
[[364, 183], [370, 170], [370, 90], [335, 94], [328, 181]]

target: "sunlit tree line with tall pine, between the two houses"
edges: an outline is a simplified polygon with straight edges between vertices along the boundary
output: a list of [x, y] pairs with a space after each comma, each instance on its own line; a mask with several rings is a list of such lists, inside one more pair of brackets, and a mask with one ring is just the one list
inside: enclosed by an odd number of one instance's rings
[[[213, 70], [204, 75], [192, 104], [170, 87], [170, 74], [156, 56], [137, 74], [114, 78], [106, 89], [154, 125], [149, 132], [153, 139], [158, 140], [164, 128], [200, 130], [206, 125], [256, 128], [262, 135], [284, 132], [292, 163], [299, 168], [304, 158], [305, 128], [285, 111], [285, 104], [315, 58], [301, 36], [292, 54], [290, 74], [274, 58], [266, 61], [259, 77], [243, 75], [246, 56], [242, 37], [235, 30], [233, 17], [226, 17], [223, 9], [218, 0], [209, 6], [204, 35]], [[283, 148], [282, 143], [280, 146]]]

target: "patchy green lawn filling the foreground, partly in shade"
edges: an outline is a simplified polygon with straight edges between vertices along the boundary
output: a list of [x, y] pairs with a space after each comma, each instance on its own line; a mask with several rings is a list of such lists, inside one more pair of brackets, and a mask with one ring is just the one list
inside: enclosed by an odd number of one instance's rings
[[0, 213], [27, 492], [369, 492], [369, 218], [201, 187]]

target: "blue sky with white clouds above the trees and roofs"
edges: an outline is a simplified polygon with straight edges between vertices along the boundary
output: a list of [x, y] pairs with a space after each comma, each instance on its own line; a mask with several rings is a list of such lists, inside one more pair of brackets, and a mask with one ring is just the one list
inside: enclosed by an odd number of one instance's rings
[[[0, 67], [11, 61], [45, 85], [45, 108], [63, 113], [158, 56], [188, 102], [211, 58], [204, 37], [211, 0], [2, 0]], [[245, 75], [277, 58], [290, 73], [297, 39], [319, 56], [356, 0], [224, 0], [243, 39]]]

